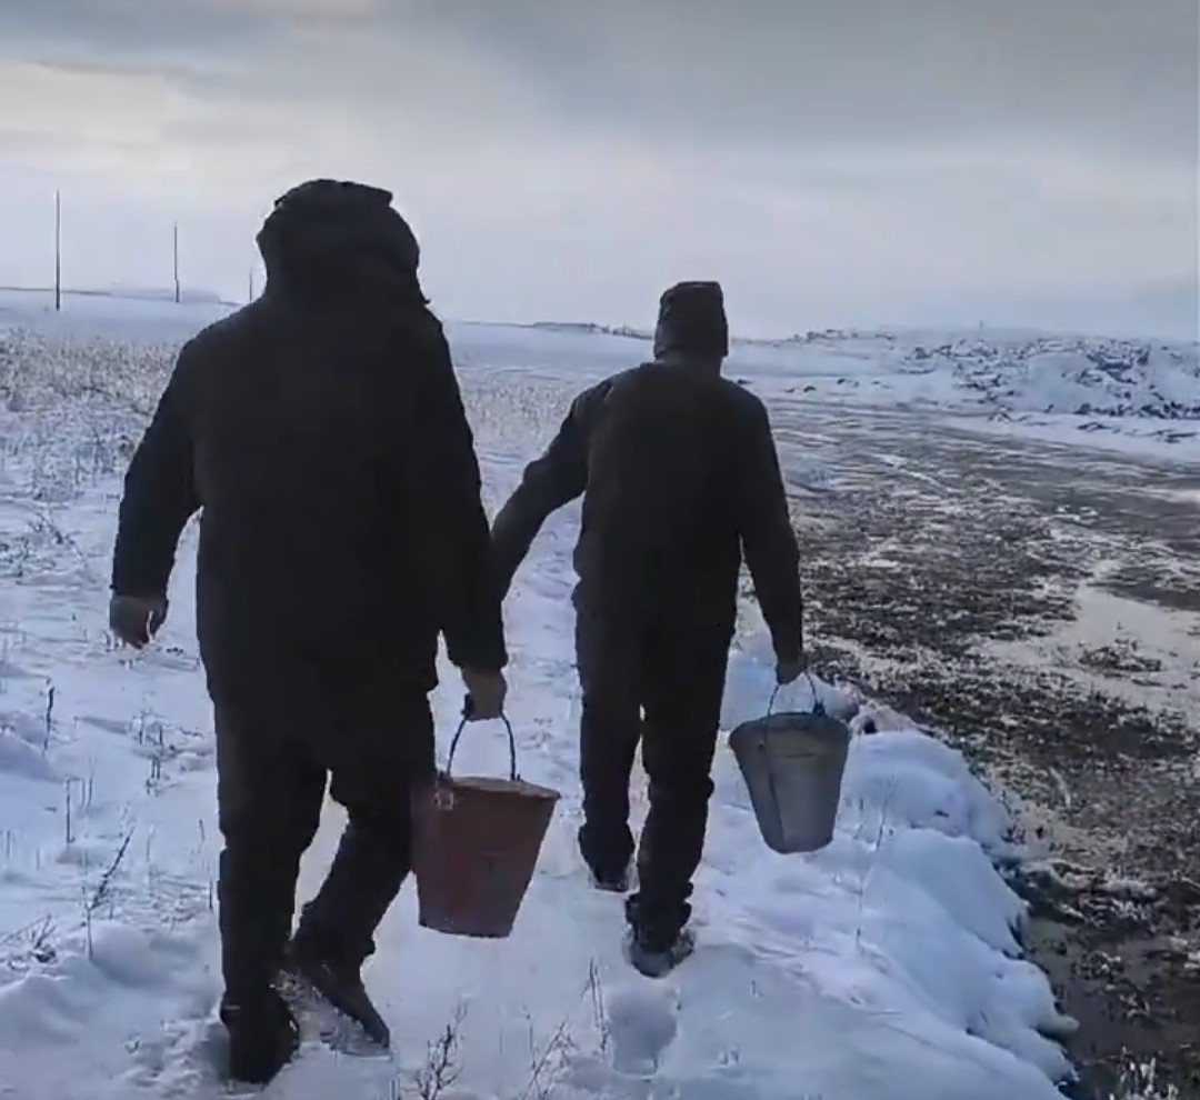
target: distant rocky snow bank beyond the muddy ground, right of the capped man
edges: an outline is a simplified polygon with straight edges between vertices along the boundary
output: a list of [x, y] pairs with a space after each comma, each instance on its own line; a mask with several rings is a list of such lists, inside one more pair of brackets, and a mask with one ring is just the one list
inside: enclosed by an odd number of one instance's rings
[[810, 333], [739, 345], [773, 404], [936, 416], [946, 427], [1200, 462], [1200, 345], [1031, 333]]

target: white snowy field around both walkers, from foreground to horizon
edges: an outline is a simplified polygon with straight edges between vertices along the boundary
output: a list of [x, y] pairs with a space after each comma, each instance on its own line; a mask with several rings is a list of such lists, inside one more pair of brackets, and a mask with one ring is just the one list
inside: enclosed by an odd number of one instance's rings
[[[138, 656], [116, 650], [104, 621], [130, 445], [172, 343], [214, 313], [90, 300], [54, 317], [24, 299], [0, 300], [0, 1096], [222, 1095], [212, 1016], [220, 841], [191, 606], [194, 528], [158, 643]], [[450, 336], [491, 507], [578, 383], [647, 351], [640, 339], [569, 329], [452, 325]], [[992, 399], [962, 380], [971, 369], [948, 365], [948, 354], [937, 351], [922, 373], [899, 353], [882, 354], [895, 338], [845, 339], [840, 349], [833, 338], [739, 347], [732, 373], [780, 401], [842, 399], [840, 378], [854, 378], [863, 401], [918, 402], [942, 387], [938, 408], [955, 415], [978, 415], [970, 403]], [[1151, 417], [1159, 426], [1189, 392], [1196, 401], [1194, 350], [1190, 361], [1187, 354], [1152, 349], [1138, 375], [1151, 380], [1128, 383], [1140, 415], [1153, 401], [1175, 402]], [[1032, 373], [1070, 371], [1060, 362]], [[1106, 384], [1085, 374], [1072, 377], [1092, 387], [1096, 404]], [[838, 835], [815, 856], [766, 848], [732, 755], [720, 752], [697, 954], [659, 984], [622, 961], [619, 902], [588, 889], [574, 846], [576, 522], [568, 510], [547, 525], [506, 605], [522, 771], [564, 793], [516, 931], [503, 943], [438, 937], [418, 928], [407, 888], [367, 974], [392, 1024], [394, 1053], [349, 1058], [313, 1040], [265, 1095], [1058, 1096], [1054, 1081], [1069, 1068], [1052, 1036], [1070, 1024], [1044, 975], [1021, 958], [1025, 908], [996, 870], [1018, 855], [1006, 842], [1009, 821], [956, 752], [896, 715], [856, 738]], [[748, 612], [726, 725], [764, 708], [772, 673], [763, 653]], [[829, 703], [863, 704], [860, 727], [865, 701], [821, 690]], [[798, 690], [794, 702], [808, 705], [805, 696]], [[444, 745], [461, 703], [452, 671], [434, 702]], [[499, 770], [499, 732], [473, 727], [462, 759]], [[302, 896], [319, 882], [338, 828], [331, 807]], [[448, 1026], [456, 1080], [439, 1086], [428, 1080], [428, 1051]]]

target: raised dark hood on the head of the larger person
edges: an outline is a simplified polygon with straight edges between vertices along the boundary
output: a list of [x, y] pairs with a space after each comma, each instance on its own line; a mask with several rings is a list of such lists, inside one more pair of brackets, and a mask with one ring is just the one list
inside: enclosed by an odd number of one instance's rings
[[380, 187], [340, 180], [310, 180], [281, 196], [258, 233], [266, 289], [425, 303], [420, 246], [391, 199]]

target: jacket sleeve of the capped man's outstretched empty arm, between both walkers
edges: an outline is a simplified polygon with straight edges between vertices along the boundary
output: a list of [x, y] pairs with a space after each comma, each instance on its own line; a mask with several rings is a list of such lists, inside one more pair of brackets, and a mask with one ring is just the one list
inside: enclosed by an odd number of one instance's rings
[[502, 595], [529, 553], [551, 512], [582, 495], [588, 485], [588, 441], [595, 410], [610, 383], [584, 391], [571, 403], [558, 434], [526, 467], [521, 483], [492, 523], [492, 557]]

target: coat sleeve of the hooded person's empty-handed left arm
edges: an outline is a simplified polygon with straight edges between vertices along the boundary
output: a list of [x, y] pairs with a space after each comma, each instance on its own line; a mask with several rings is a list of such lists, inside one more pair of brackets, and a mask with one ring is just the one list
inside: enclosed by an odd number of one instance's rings
[[166, 595], [179, 536], [200, 507], [185, 392], [191, 359], [185, 345], [125, 474], [113, 551], [118, 595]]

